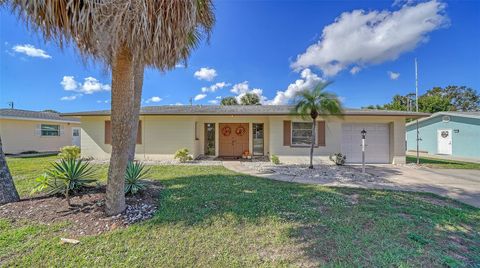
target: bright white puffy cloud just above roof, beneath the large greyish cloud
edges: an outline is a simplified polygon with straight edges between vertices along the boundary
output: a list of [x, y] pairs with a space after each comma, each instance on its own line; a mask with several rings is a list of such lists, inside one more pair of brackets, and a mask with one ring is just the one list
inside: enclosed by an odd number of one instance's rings
[[290, 84], [285, 91], [277, 91], [275, 98], [269, 101], [268, 104], [281, 105], [288, 104], [290, 100], [295, 97], [295, 94], [305, 89], [312, 89], [319, 82], [324, 80], [310, 69], [305, 69], [300, 73], [301, 79], [297, 79]]

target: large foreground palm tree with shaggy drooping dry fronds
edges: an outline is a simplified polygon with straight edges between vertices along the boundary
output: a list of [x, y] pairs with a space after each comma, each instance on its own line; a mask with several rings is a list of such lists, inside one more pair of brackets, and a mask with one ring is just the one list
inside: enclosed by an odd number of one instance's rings
[[143, 70], [186, 61], [214, 24], [211, 0], [0, 0], [60, 47], [74, 43], [84, 59], [112, 70], [112, 154], [106, 212], [125, 209], [124, 177], [134, 151]]

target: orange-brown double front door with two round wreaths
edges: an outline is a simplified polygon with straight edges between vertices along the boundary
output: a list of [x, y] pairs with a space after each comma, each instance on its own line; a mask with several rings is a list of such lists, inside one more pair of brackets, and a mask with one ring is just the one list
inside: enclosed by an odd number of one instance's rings
[[223, 123], [219, 124], [219, 130], [220, 156], [242, 156], [248, 151], [248, 124]]

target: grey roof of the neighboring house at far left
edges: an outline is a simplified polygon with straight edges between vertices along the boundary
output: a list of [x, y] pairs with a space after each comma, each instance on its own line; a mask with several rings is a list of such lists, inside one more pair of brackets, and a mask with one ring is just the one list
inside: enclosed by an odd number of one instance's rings
[[2, 119], [80, 123], [80, 120], [78, 118], [63, 117], [58, 113], [37, 112], [37, 111], [28, 111], [28, 110], [19, 110], [19, 109], [0, 109], [0, 118], [2, 118]]

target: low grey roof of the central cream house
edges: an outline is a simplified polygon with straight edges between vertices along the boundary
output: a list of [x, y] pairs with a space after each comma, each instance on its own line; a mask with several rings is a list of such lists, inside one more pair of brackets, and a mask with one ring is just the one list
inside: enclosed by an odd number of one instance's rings
[[[141, 115], [291, 115], [293, 106], [289, 105], [193, 105], [193, 106], [147, 106], [140, 110]], [[419, 118], [429, 116], [427, 113], [405, 111], [386, 111], [369, 109], [345, 109], [344, 115], [357, 116], [405, 116]], [[110, 110], [65, 113], [63, 116], [101, 116], [110, 115]]]

